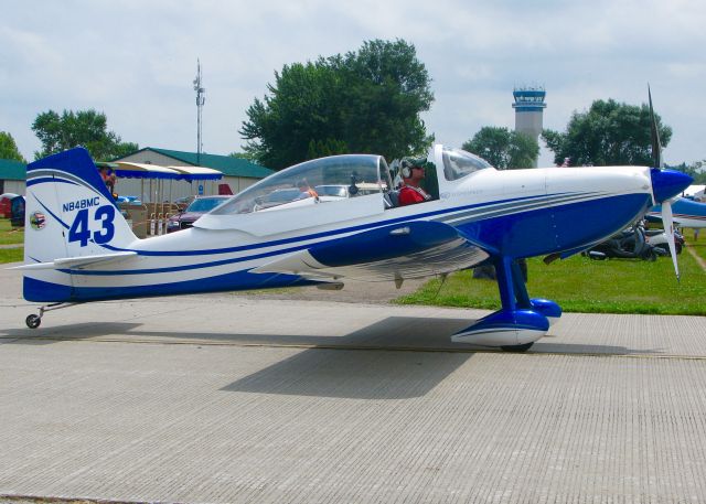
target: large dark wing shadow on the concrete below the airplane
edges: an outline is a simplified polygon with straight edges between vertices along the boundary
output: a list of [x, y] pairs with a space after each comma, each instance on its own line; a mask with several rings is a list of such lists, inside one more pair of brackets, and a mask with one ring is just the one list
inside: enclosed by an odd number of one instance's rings
[[277, 362], [222, 390], [360, 399], [420, 397], [473, 355], [439, 350], [478, 350], [450, 341], [451, 334], [471, 322], [389, 317], [345, 336], [315, 337], [310, 341], [317, 344], [314, 348]]

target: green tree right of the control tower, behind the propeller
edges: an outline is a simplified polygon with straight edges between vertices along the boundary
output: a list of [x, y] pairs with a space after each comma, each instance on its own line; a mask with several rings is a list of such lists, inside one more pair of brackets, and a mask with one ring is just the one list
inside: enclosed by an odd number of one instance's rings
[[[662, 146], [672, 128], [655, 114]], [[573, 165], [652, 164], [650, 108], [646, 105], [596, 100], [588, 111], [574, 112], [565, 132], [545, 129], [542, 138], [554, 152], [554, 162], [569, 158]]]

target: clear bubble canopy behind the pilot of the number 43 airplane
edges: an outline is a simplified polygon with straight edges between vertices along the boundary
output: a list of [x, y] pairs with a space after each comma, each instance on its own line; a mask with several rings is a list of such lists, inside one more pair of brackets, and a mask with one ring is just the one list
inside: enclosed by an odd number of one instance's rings
[[307, 187], [320, 192], [318, 200], [327, 202], [382, 193], [391, 186], [389, 171], [382, 156], [332, 156], [306, 161], [263, 179], [212, 214], [247, 214], [299, 206], [311, 197], [311, 193], [306, 192]]

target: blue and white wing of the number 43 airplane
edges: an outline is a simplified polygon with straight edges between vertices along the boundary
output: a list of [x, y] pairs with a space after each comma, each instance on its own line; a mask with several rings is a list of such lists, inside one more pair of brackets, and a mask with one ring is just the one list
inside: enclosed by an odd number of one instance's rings
[[394, 280], [448, 274], [478, 265], [489, 253], [448, 224], [410, 222], [314, 244], [250, 270], [319, 281]]

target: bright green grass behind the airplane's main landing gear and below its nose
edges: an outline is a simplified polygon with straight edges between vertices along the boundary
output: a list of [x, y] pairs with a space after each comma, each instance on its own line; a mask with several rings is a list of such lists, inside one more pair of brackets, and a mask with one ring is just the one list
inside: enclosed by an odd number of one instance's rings
[[[666, 257], [648, 262], [631, 259], [597, 261], [575, 256], [548, 266], [535, 257], [527, 261], [527, 290], [531, 297], [556, 301], [567, 312], [706, 315], [706, 271], [687, 253], [681, 254], [678, 259], [680, 283], [674, 277], [672, 261]], [[396, 302], [500, 308], [496, 283], [473, 279], [471, 271], [453, 274], [443, 286], [440, 283], [439, 279], [430, 280], [417, 292]]]

